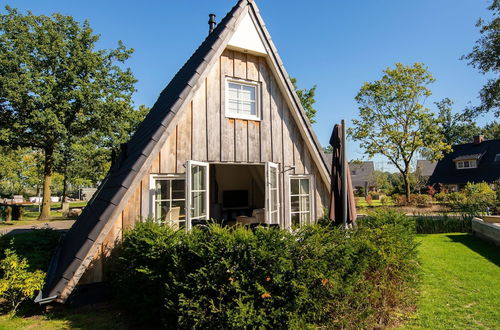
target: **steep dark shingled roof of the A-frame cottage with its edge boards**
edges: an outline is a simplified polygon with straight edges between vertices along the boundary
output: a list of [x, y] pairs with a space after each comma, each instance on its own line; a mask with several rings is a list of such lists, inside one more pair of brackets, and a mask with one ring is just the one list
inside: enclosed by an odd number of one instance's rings
[[151, 111], [124, 148], [121, 161], [110, 169], [93, 199], [65, 235], [52, 258], [45, 286], [37, 297], [37, 302], [65, 302], [68, 298], [92, 261], [105, 234], [111, 228], [110, 220], [121, 212], [122, 200], [132, 194], [132, 189], [129, 187], [141, 179], [141, 174], [151, 163], [150, 155], [154, 154], [166, 140], [165, 132], [169, 129], [176, 113], [184, 102], [190, 99], [198, 87], [200, 77], [207, 73], [209, 64], [220, 56], [237, 23], [247, 10], [257, 20], [260, 33], [266, 40], [265, 46], [270, 61], [292, 96], [294, 108], [299, 113], [303, 127], [306, 128], [305, 134], [313, 141], [319, 167], [323, 169], [320, 173], [324, 179], [328, 178], [328, 164], [323, 157], [320, 144], [294, 92], [259, 10], [253, 0], [239, 0], [161, 92]]

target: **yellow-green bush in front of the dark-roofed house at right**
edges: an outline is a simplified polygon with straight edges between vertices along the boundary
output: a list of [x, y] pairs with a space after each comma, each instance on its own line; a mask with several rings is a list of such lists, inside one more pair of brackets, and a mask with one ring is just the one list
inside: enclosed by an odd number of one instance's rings
[[485, 182], [468, 183], [462, 191], [447, 194], [445, 202], [464, 216], [479, 216], [495, 207], [496, 193]]

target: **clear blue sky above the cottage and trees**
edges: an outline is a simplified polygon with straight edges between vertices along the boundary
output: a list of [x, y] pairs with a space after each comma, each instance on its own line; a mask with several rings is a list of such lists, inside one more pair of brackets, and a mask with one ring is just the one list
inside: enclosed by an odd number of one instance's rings
[[[425, 105], [452, 99], [454, 110], [478, 104], [487, 80], [460, 57], [479, 38], [475, 23], [491, 13], [487, 0], [257, 0], [260, 13], [288, 73], [299, 88], [317, 85], [314, 130], [326, 146], [335, 123], [357, 117], [354, 100], [366, 81], [400, 62], [423, 62], [436, 82]], [[22, 12], [58, 12], [88, 20], [101, 35], [99, 48], [118, 40], [135, 50], [126, 62], [138, 79], [136, 106], [152, 106], [177, 70], [208, 33], [208, 14], [220, 21], [236, 0], [2, 0]], [[1, 9], [4, 12], [3, 8]], [[493, 114], [478, 119], [492, 121]], [[348, 158], [367, 160], [362, 146], [348, 142]], [[393, 171], [382, 157], [377, 169]]]

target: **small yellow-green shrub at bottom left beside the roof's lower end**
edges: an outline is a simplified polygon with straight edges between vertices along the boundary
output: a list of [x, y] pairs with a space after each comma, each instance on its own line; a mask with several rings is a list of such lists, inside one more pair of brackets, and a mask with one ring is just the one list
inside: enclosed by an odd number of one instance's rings
[[0, 298], [5, 300], [8, 310], [15, 313], [19, 305], [41, 290], [45, 274], [30, 272], [28, 261], [20, 258], [11, 249], [5, 250], [5, 258], [0, 261]]

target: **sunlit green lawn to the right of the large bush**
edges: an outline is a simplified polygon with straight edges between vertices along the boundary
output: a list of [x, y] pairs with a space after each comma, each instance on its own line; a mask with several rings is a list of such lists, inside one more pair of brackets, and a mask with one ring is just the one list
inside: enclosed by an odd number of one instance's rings
[[419, 235], [423, 285], [409, 329], [500, 328], [500, 249], [469, 234]]

